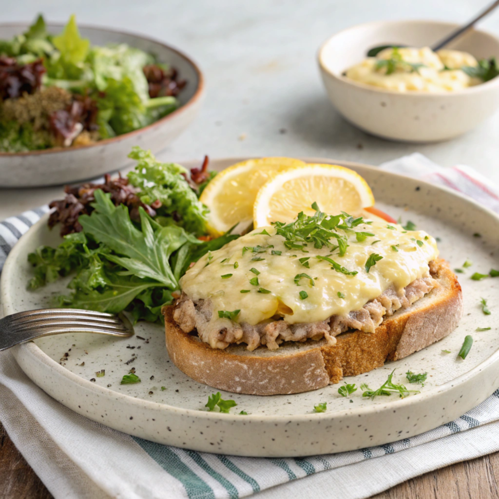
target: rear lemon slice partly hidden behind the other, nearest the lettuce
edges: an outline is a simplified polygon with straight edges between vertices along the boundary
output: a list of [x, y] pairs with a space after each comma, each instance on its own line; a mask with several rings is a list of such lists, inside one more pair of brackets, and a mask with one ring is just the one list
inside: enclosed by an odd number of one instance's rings
[[220, 172], [200, 197], [210, 209], [209, 232], [220, 236], [236, 224], [240, 224], [240, 232], [247, 229], [260, 187], [279, 172], [304, 164], [292, 158], [260, 158], [236, 163]]

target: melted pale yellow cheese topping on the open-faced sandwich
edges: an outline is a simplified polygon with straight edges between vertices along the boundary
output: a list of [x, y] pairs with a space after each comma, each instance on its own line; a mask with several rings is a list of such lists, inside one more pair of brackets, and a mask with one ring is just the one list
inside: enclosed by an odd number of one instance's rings
[[[269, 236], [261, 234], [260, 228], [204, 255], [180, 280], [182, 290], [193, 300], [210, 299], [217, 318], [219, 310], [240, 310], [234, 319], [240, 323], [254, 325], [274, 315], [283, 316], [290, 324], [316, 322], [358, 310], [392, 285], [399, 290], [428, 276], [428, 262], [438, 256], [435, 240], [425, 232], [404, 231], [400, 225], [386, 222], [356, 227], [356, 232], [375, 236], [357, 242], [355, 234], [348, 235], [344, 256], [339, 256], [338, 250], [330, 251], [326, 246], [316, 249], [310, 244], [306, 247], [308, 252], [288, 250], [284, 237], [276, 235], [273, 227], [265, 230]], [[343, 231], [339, 233], [342, 235]], [[280, 251], [280, 255], [272, 254], [272, 250]], [[383, 258], [367, 272], [365, 264], [372, 253]], [[329, 255], [349, 271], [358, 273], [337, 272], [331, 263], [317, 259], [317, 255]], [[299, 261], [304, 257], [309, 257], [309, 268]], [[295, 277], [301, 273], [308, 274], [313, 285], [307, 277], [299, 278], [297, 285]], [[250, 279], [255, 277], [258, 283], [253, 280], [251, 284]], [[302, 299], [300, 291], [308, 296]]]

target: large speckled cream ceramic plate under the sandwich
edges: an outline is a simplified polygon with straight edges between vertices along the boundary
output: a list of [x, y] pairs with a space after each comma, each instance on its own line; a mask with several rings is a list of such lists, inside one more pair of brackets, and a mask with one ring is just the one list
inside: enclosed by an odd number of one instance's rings
[[[242, 159], [212, 161], [211, 166], [221, 170]], [[475, 271], [499, 268], [494, 251], [499, 245], [499, 217], [450, 190], [368, 166], [338, 163], [364, 176], [382, 210], [440, 238], [441, 255], [453, 267], [466, 258], [473, 260], [473, 266], [459, 274], [465, 313], [453, 333], [403, 360], [347, 378], [357, 386], [366, 382], [378, 388], [394, 368], [394, 380], [406, 384], [408, 369], [427, 371], [420, 394], [370, 400], [357, 390], [343, 398], [338, 385], [270, 397], [223, 393], [223, 398], [238, 404], [233, 414], [206, 412], [208, 396], [216, 390], [196, 383], [172, 364], [163, 328], [153, 324], [138, 324], [130, 339], [85, 333], [44, 338], [16, 347], [17, 362], [45, 392], [79, 414], [131, 435], [197, 451], [245, 456], [342, 452], [411, 437], [459, 417], [499, 387], [495, 320], [499, 278], [470, 278]], [[481, 237], [474, 237], [475, 233]], [[28, 252], [57, 242], [56, 232], [48, 231], [44, 219], [11, 251], [1, 276], [5, 314], [48, 306], [54, 294], [64, 291], [62, 282], [36, 292], [25, 289], [30, 275]], [[489, 300], [492, 315], [482, 312], [481, 297]], [[476, 332], [477, 327], [491, 329]], [[457, 353], [467, 334], [473, 335], [474, 344], [463, 361]], [[131, 367], [142, 382], [120, 385]], [[105, 376], [96, 377], [101, 369]], [[316, 414], [313, 406], [320, 402], [327, 402], [328, 410]], [[249, 415], [240, 416], [241, 410]]]

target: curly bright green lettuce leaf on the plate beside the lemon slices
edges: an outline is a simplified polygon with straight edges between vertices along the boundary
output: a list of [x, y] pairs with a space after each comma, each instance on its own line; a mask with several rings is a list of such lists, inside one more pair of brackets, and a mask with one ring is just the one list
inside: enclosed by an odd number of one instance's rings
[[186, 231], [198, 236], [206, 234], [208, 209], [198, 200], [182, 174], [187, 170], [176, 163], [161, 163], [140, 147], [128, 155], [138, 164], [128, 174], [130, 183], [140, 188], [139, 197], [145, 204], [161, 202], [158, 216], [173, 218]]

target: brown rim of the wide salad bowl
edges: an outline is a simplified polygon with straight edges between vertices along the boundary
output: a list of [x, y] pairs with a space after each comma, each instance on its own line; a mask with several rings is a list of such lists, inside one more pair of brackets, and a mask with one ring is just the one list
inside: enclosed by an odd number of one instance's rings
[[[23, 28], [28, 26], [28, 22], [22, 22], [22, 21], [14, 21], [14, 22], [1, 22], [0, 23], [0, 30], [5, 27], [19, 27]], [[47, 25], [49, 26], [60, 26], [63, 27], [65, 24], [62, 22], [47, 22]], [[204, 90], [205, 90], [205, 78], [203, 75], [203, 72], [199, 68], [198, 64], [186, 53], [182, 52], [178, 48], [169, 45], [157, 38], [151, 37], [151, 36], [144, 36], [142, 34], [139, 34], [135, 31], [128, 31], [128, 30], [122, 30], [122, 29], [113, 29], [113, 28], [108, 28], [104, 26], [98, 26], [95, 24], [78, 24], [79, 28], [87, 28], [87, 29], [94, 29], [96, 31], [104, 31], [104, 32], [112, 32], [112, 33], [117, 33], [117, 34], [124, 34], [128, 36], [135, 36], [136, 38], [141, 38], [145, 41], [150, 41], [153, 43], [157, 43], [161, 45], [162, 47], [171, 50], [172, 52], [175, 52], [177, 55], [179, 55], [181, 58], [186, 60], [194, 69], [198, 76], [198, 86], [196, 88], [196, 91], [194, 95], [182, 106], [180, 106], [178, 109], [175, 111], [172, 111], [171, 113], [167, 114], [166, 116], [163, 116], [163, 118], [160, 118], [159, 120], [155, 121], [154, 123], [151, 123], [150, 125], [147, 125], [142, 128], [138, 128], [137, 130], [133, 130], [131, 132], [127, 132], [121, 135], [117, 135], [116, 137], [110, 137], [108, 139], [103, 139], [103, 140], [98, 140], [96, 142], [93, 142], [91, 144], [85, 144], [85, 145], [80, 145], [80, 146], [73, 146], [73, 147], [51, 147], [48, 149], [37, 149], [34, 151], [22, 151], [22, 152], [0, 152], [0, 158], [12, 158], [12, 157], [22, 157], [22, 156], [38, 156], [42, 154], [57, 154], [57, 153], [67, 153], [71, 151], [80, 151], [82, 149], [89, 149], [91, 147], [97, 147], [97, 146], [105, 146], [107, 144], [112, 144], [112, 143], [118, 143], [121, 142], [122, 140], [126, 140], [134, 135], [137, 135], [143, 131], [147, 130], [152, 130], [153, 128], [156, 128], [157, 126], [165, 123], [168, 120], [172, 120], [175, 116], [178, 116], [181, 114], [183, 111], [187, 110], [188, 107], [192, 107], [193, 104], [195, 104], [197, 101], [201, 99], [203, 96]]]

